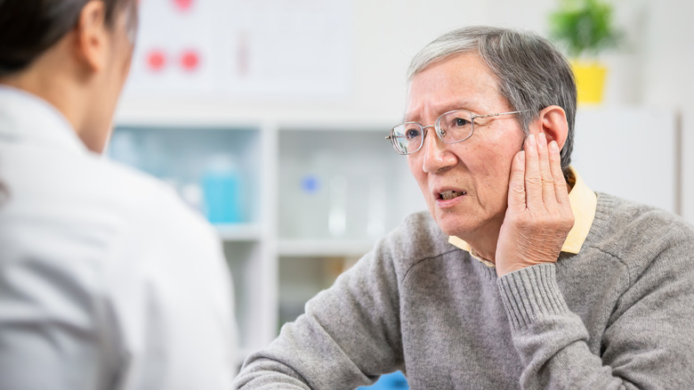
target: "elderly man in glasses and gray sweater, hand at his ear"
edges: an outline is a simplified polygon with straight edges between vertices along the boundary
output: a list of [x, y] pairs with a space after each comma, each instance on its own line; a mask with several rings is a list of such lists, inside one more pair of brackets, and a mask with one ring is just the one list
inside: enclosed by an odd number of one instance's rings
[[311, 299], [235, 385], [403, 370], [415, 389], [694, 388], [694, 229], [590, 191], [569, 167], [575, 112], [543, 38], [463, 28], [427, 45], [389, 138], [429, 213]]

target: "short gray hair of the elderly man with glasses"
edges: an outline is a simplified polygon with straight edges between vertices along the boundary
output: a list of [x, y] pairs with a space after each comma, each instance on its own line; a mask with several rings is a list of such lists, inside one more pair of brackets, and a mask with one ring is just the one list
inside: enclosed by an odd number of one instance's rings
[[566, 58], [537, 34], [493, 27], [467, 27], [450, 31], [424, 46], [408, 69], [408, 83], [434, 62], [457, 53], [477, 53], [498, 78], [499, 93], [512, 110], [520, 112], [520, 126], [529, 124], [540, 110], [557, 105], [569, 124], [561, 149], [561, 169], [568, 174], [574, 144], [576, 82]]

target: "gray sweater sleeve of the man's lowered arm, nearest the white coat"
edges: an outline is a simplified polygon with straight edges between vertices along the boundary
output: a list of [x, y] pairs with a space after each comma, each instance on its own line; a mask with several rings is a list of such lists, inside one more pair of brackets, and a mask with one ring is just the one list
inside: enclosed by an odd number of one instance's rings
[[375, 248], [335, 285], [312, 298], [270, 346], [250, 355], [239, 389], [367, 386], [402, 367], [398, 282], [390, 256]]

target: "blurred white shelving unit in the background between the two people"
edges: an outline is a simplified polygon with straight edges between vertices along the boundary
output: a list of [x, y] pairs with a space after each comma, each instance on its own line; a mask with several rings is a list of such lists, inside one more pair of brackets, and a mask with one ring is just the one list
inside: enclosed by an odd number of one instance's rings
[[238, 161], [244, 219], [214, 226], [235, 285], [240, 363], [378, 237], [424, 208], [405, 158], [384, 139], [388, 128], [150, 112], [117, 121], [109, 154], [183, 198], [199, 187], [206, 158]]

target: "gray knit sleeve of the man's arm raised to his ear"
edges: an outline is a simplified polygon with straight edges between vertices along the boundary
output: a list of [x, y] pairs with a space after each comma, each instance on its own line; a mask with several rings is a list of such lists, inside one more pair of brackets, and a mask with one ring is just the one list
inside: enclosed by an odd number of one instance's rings
[[[674, 252], [677, 252], [675, 255]], [[689, 258], [666, 250], [638, 275], [612, 310], [601, 356], [558, 288], [555, 264], [497, 280], [524, 370], [520, 385], [539, 388], [694, 387], [694, 294]]]

